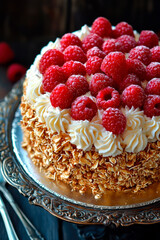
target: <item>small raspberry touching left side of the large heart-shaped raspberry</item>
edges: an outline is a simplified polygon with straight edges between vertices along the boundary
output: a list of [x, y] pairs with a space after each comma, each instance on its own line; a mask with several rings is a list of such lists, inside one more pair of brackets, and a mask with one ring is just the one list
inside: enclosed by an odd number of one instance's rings
[[86, 70], [89, 75], [101, 72], [101, 63], [102, 58], [99, 57], [90, 57], [86, 62]]

